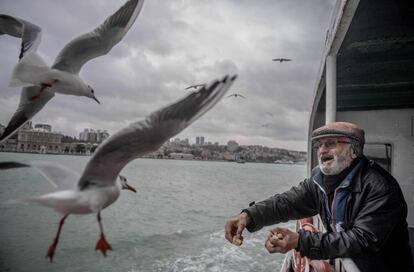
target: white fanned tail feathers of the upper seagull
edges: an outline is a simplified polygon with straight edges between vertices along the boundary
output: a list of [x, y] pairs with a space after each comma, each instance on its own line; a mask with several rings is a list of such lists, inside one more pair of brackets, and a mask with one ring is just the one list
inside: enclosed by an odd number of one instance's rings
[[44, 60], [36, 52], [29, 52], [14, 67], [9, 86], [40, 85], [47, 81], [47, 71], [49, 71], [49, 67]]

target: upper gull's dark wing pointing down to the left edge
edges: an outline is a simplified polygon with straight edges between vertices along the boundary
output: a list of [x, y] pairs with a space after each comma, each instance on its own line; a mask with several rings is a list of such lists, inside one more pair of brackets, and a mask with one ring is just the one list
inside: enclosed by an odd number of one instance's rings
[[9, 124], [0, 136], [0, 143], [12, 136], [20, 127], [38, 113], [46, 103], [55, 96], [54, 92], [44, 90], [39, 98], [32, 97], [39, 93], [39, 86], [24, 87], [20, 94], [20, 102]]

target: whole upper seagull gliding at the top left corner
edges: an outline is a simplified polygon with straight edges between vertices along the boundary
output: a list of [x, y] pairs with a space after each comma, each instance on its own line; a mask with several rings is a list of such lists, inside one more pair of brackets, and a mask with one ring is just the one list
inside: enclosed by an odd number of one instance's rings
[[106, 55], [128, 32], [141, 11], [143, 0], [129, 0], [101, 25], [69, 42], [49, 68], [36, 53], [41, 29], [25, 20], [0, 15], [0, 34], [22, 38], [19, 62], [14, 68], [11, 85], [23, 86], [20, 102], [0, 143], [12, 136], [38, 113], [55, 93], [86, 96], [94, 99], [94, 90], [79, 77], [89, 60]]

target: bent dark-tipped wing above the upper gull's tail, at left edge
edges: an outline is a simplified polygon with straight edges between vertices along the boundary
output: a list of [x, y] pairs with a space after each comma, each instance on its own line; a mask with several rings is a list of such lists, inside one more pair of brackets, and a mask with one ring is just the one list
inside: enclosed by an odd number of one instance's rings
[[19, 59], [27, 52], [36, 51], [42, 37], [42, 30], [37, 25], [9, 15], [0, 14], [0, 35], [7, 34], [22, 38]]

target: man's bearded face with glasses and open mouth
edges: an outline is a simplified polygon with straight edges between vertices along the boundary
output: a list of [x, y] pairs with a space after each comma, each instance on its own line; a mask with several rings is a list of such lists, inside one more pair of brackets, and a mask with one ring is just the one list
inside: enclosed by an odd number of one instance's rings
[[351, 142], [346, 137], [322, 138], [315, 146], [318, 151], [319, 168], [328, 176], [339, 174], [356, 158]]

